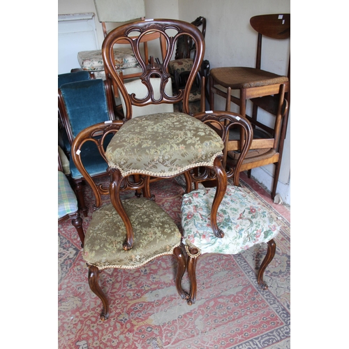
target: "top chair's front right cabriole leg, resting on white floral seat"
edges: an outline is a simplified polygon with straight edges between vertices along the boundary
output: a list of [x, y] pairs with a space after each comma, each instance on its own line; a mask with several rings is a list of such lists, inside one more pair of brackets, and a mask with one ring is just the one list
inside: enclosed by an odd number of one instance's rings
[[223, 200], [225, 191], [227, 189], [228, 180], [227, 180], [227, 174], [223, 169], [220, 158], [214, 159], [214, 172], [216, 172], [217, 187], [216, 187], [216, 194], [214, 195], [214, 201], [212, 202], [212, 208], [211, 208], [211, 228], [216, 237], [224, 237], [224, 232], [222, 232], [222, 230], [219, 229], [217, 225], [217, 212], [218, 212], [218, 207], [221, 204], [221, 201]]

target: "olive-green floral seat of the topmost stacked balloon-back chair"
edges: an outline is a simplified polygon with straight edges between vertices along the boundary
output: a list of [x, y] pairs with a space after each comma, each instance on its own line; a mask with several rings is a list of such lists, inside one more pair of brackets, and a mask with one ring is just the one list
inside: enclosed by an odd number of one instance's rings
[[212, 166], [223, 141], [188, 114], [158, 113], [126, 121], [107, 146], [110, 168], [125, 177], [140, 173], [170, 177], [198, 166]]

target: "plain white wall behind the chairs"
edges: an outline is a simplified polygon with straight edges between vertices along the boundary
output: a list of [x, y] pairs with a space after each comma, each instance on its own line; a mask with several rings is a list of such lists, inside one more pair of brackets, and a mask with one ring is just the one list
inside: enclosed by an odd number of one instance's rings
[[[202, 15], [207, 19], [205, 59], [211, 68], [218, 66], [254, 66], [257, 35], [249, 20], [253, 15], [290, 13], [290, 0], [145, 0], [147, 18], [174, 18], [192, 22]], [[93, 0], [59, 0], [58, 13], [94, 12]], [[103, 43], [103, 31], [96, 18], [97, 35]], [[263, 40], [262, 69], [277, 74], [287, 74], [290, 40]], [[263, 60], [264, 59], [264, 60]], [[223, 110], [225, 101], [215, 97], [215, 109]], [[249, 105], [247, 112], [250, 112]], [[237, 107], [232, 104], [232, 111]], [[272, 122], [269, 114], [260, 112], [266, 122]], [[291, 113], [290, 113], [291, 117]], [[290, 204], [290, 117], [283, 150], [283, 160], [277, 193]], [[252, 175], [269, 190], [272, 188], [274, 165], [252, 170]]]

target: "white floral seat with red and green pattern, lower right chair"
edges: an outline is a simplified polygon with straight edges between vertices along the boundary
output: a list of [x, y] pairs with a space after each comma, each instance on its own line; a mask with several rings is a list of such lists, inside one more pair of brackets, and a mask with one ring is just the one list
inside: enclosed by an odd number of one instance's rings
[[279, 225], [266, 207], [239, 186], [228, 185], [218, 208], [218, 227], [225, 232], [215, 237], [209, 223], [209, 213], [216, 188], [199, 189], [184, 194], [181, 223], [189, 246], [203, 253], [240, 253], [255, 244], [269, 242], [279, 233]]

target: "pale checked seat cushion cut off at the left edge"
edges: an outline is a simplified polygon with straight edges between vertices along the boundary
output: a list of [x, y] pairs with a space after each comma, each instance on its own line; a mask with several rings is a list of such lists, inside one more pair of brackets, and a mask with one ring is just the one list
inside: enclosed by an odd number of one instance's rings
[[58, 171], [58, 219], [77, 211], [77, 200], [66, 175]]

